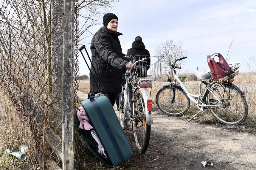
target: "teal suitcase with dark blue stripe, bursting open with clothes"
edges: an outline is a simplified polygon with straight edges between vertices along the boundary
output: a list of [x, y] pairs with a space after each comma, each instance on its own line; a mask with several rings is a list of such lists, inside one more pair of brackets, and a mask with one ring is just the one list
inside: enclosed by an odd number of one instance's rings
[[[117, 119], [117, 115], [108, 99], [102, 93], [89, 93], [88, 99], [81, 102], [83, 108], [87, 112], [91, 120], [91, 125], [97, 132], [105, 151], [107, 152], [110, 161], [102, 159], [88, 144], [83, 133], [80, 133], [80, 138], [86, 146], [94, 153], [102, 162], [108, 166], [117, 166], [125, 160], [134, 156], [134, 152], [124, 131]], [[77, 130], [79, 122], [76, 123]]]

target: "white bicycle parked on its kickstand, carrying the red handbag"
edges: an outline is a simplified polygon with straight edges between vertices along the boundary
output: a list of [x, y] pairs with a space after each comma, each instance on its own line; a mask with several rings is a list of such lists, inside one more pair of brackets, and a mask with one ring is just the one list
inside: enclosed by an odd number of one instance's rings
[[[223, 77], [223, 75], [226, 75], [225, 72], [196, 72], [195, 75], [199, 80], [199, 93], [193, 95], [176, 75], [176, 69], [181, 69], [181, 67], [175, 66], [176, 61], [185, 58], [187, 57], [174, 60], [171, 65], [174, 75], [173, 82], [168, 77], [167, 81], [170, 82], [170, 85], [163, 86], [157, 92], [156, 104], [159, 109], [167, 115], [178, 116], [187, 112], [190, 101], [192, 101], [199, 111], [187, 122], [193, 120], [198, 114], [205, 112], [204, 109], [209, 109], [211, 114], [223, 124], [239, 125], [243, 123], [248, 115], [246, 94], [232, 83], [234, 76], [238, 74], [238, 64], [231, 64], [229, 70], [232, 71], [232, 74], [217, 82], [214, 81], [214, 78], [216, 80], [215, 76]], [[203, 80], [209, 80], [209, 82]], [[202, 85], [205, 86], [204, 94], [201, 93]]]

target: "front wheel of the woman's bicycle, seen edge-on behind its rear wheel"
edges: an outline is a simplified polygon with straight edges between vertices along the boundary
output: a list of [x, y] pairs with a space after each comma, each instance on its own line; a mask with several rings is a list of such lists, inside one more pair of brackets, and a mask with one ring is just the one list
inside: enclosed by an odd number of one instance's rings
[[[127, 98], [126, 98], [126, 90], [122, 90], [122, 93], [120, 94], [120, 98], [119, 98], [119, 122], [120, 125], [122, 127], [122, 129], [124, 130], [128, 120], [125, 119], [125, 113], [127, 112]], [[127, 114], [127, 113], [126, 113]]]

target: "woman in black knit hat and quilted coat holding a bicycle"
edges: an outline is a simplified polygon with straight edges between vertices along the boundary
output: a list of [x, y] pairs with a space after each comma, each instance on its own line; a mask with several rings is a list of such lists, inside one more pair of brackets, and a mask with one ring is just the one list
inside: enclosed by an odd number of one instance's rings
[[[117, 32], [118, 18], [115, 14], [107, 13], [103, 16], [103, 27], [101, 27], [91, 40], [91, 61], [96, 69], [90, 73], [90, 90], [94, 94], [105, 92], [111, 101], [112, 106], [118, 93], [122, 91], [121, 79], [124, 69], [131, 68], [132, 62], [122, 55], [122, 48], [118, 36], [122, 33]], [[100, 82], [96, 79], [98, 74]], [[95, 77], [95, 81], [92, 78]], [[100, 89], [97, 87], [99, 85]]]

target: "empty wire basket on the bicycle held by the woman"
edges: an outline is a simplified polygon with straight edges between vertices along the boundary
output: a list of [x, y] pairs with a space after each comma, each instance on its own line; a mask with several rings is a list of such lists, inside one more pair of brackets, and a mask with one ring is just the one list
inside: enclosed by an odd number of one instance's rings
[[145, 56], [136, 55], [131, 61], [135, 63], [129, 69], [126, 69], [129, 84], [135, 84], [139, 81], [155, 81], [162, 76], [161, 65], [163, 56]]

